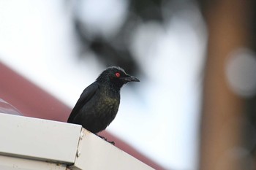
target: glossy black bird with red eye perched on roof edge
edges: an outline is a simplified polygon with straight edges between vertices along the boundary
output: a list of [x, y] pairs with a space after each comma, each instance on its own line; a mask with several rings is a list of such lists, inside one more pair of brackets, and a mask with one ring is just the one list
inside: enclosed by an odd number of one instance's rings
[[83, 90], [67, 122], [82, 125], [94, 134], [105, 130], [118, 112], [121, 87], [139, 81], [120, 67], [109, 67]]

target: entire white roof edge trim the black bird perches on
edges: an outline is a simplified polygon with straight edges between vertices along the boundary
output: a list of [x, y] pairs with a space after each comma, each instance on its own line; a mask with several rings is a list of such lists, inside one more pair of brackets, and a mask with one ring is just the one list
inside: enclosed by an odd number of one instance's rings
[[0, 113], [0, 168], [26, 169], [27, 163], [72, 170], [152, 169], [81, 125]]

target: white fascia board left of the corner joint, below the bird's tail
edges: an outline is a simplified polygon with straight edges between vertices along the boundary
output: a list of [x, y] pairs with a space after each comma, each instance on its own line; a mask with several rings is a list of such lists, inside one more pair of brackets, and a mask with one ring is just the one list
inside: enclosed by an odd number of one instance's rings
[[80, 125], [0, 113], [0, 155], [72, 164]]

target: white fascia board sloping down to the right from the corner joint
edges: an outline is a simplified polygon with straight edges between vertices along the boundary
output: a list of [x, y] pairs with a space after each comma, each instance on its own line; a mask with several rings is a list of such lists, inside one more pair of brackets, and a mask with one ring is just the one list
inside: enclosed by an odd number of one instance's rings
[[78, 154], [73, 166], [69, 169], [94, 169], [94, 170], [151, 170], [150, 166], [114, 147], [113, 144], [95, 136], [85, 128], [78, 144]]

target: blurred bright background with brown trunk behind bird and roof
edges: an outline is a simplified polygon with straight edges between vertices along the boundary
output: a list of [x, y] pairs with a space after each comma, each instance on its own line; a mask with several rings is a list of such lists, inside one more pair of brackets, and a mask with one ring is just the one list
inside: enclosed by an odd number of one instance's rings
[[121, 90], [107, 131], [163, 169], [256, 169], [254, 7], [0, 1], [0, 62], [70, 108], [102, 70], [121, 66], [140, 82]]

